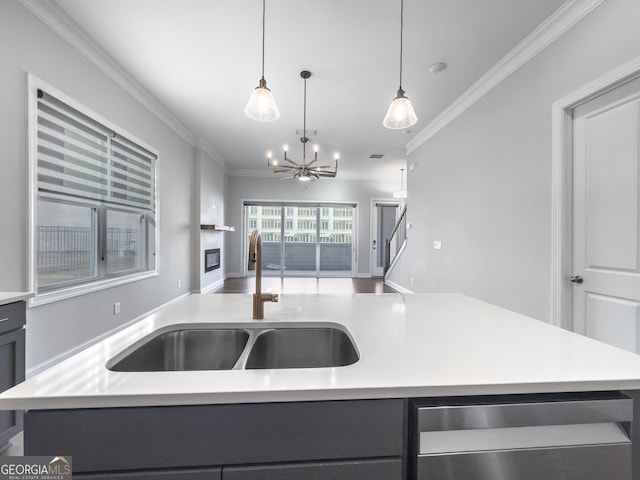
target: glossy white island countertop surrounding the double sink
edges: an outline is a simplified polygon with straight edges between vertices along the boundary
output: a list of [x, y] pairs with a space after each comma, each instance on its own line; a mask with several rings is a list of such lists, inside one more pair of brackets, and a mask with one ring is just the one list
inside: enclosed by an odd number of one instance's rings
[[[640, 356], [458, 294], [191, 295], [0, 394], [0, 408], [339, 400], [640, 388]], [[114, 355], [177, 323], [336, 322], [360, 360], [337, 368], [112, 372]]]

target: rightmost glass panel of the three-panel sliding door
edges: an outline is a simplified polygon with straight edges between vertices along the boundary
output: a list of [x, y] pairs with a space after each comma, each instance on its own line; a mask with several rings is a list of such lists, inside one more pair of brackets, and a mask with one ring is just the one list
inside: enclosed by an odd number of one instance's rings
[[353, 213], [351, 207], [320, 208], [319, 275], [352, 275]]

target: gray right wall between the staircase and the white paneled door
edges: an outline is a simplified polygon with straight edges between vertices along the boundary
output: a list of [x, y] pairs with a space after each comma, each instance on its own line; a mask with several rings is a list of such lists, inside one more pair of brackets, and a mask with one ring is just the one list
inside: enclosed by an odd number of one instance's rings
[[409, 155], [413, 228], [392, 281], [550, 319], [551, 105], [639, 57], [639, 19], [638, 0], [603, 2]]

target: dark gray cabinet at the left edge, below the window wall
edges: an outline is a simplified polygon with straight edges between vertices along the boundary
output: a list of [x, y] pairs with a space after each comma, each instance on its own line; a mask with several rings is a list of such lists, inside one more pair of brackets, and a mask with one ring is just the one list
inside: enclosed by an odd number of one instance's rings
[[[24, 380], [24, 302], [0, 305], [0, 392]], [[0, 452], [22, 429], [22, 412], [0, 411]]]

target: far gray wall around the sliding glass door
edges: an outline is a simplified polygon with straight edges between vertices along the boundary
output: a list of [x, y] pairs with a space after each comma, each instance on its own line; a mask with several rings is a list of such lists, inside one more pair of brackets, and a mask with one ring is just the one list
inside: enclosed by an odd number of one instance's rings
[[227, 275], [241, 275], [245, 259], [242, 258], [242, 225], [244, 200], [284, 200], [294, 202], [357, 202], [357, 275], [371, 273], [369, 262], [369, 242], [371, 229], [371, 199], [389, 198], [398, 188], [397, 179], [385, 180], [343, 180], [321, 179], [317, 182], [302, 183], [281, 180], [278, 176], [268, 178], [234, 177], [228, 179], [227, 207], [229, 222], [236, 227], [227, 235]]

